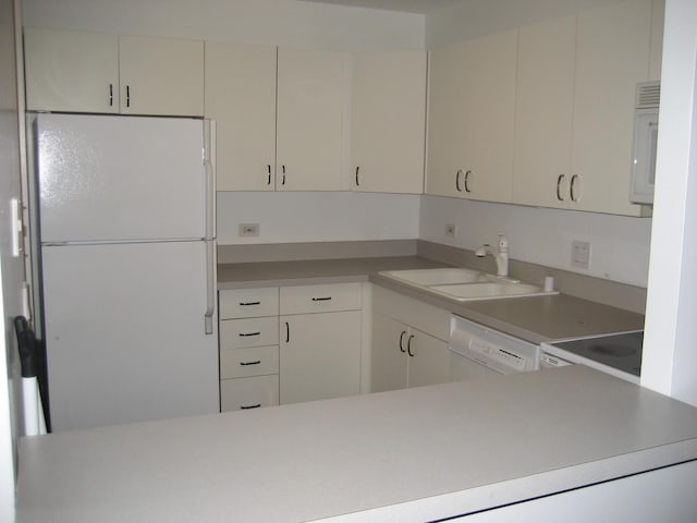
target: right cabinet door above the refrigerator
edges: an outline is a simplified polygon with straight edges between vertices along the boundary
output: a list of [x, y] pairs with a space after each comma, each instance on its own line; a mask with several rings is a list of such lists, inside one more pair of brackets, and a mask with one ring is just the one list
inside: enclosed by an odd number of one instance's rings
[[121, 112], [204, 115], [204, 42], [119, 37]]

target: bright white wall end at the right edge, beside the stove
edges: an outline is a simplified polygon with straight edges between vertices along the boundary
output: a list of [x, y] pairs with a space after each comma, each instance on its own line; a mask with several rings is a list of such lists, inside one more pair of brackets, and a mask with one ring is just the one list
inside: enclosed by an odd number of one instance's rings
[[641, 385], [697, 405], [697, 2], [668, 0]]

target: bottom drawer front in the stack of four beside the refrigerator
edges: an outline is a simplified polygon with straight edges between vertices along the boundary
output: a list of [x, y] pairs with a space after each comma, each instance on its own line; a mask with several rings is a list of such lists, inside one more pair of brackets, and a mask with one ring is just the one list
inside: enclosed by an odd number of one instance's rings
[[220, 410], [243, 411], [279, 404], [279, 376], [223, 379], [220, 381]]

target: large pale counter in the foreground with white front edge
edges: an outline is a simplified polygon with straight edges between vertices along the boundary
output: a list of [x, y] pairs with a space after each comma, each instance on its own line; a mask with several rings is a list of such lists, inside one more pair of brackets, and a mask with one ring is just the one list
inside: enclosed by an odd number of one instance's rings
[[695, 459], [696, 409], [573, 365], [24, 438], [16, 521], [426, 521]]

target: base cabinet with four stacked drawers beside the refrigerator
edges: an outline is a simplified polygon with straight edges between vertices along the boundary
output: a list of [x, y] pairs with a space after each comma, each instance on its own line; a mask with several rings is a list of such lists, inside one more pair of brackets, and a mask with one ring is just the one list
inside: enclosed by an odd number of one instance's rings
[[222, 290], [220, 408], [360, 392], [362, 284]]

